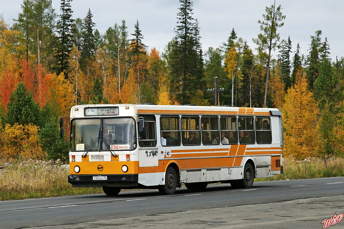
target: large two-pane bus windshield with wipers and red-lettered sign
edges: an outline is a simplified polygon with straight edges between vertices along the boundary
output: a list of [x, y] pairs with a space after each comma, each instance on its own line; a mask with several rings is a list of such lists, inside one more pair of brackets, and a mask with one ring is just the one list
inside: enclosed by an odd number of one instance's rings
[[71, 151], [136, 148], [136, 128], [133, 118], [74, 119], [71, 128]]

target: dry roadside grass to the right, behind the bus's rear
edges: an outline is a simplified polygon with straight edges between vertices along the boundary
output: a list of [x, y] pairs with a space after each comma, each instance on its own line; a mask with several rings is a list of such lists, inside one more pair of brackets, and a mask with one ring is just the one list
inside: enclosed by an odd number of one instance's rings
[[344, 159], [333, 157], [326, 161], [307, 158], [302, 161], [283, 160], [284, 173], [271, 178], [257, 178], [256, 181], [298, 180], [344, 176]]

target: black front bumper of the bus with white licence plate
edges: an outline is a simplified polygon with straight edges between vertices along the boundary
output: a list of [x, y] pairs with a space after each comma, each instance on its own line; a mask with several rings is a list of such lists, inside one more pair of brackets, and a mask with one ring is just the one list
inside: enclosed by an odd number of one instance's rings
[[139, 174], [68, 175], [72, 187], [136, 187], [138, 181]]

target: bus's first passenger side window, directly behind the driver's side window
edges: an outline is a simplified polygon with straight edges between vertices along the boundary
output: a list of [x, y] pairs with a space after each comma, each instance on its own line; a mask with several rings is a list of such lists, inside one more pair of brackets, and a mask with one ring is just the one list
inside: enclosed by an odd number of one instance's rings
[[166, 139], [165, 146], [180, 146], [179, 116], [160, 116], [160, 131]]

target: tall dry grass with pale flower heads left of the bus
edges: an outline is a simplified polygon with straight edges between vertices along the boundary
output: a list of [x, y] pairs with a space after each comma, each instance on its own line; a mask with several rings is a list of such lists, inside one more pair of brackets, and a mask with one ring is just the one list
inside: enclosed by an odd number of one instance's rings
[[0, 200], [103, 192], [101, 188], [72, 188], [69, 168], [57, 161], [14, 161], [0, 169]]

